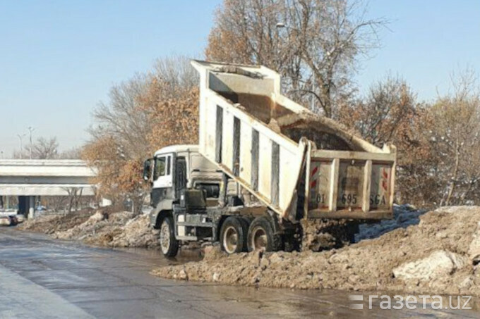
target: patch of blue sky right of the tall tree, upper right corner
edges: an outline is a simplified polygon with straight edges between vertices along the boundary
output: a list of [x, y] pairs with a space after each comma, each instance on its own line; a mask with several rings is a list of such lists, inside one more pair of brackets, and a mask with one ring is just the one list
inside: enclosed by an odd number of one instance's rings
[[380, 32], [382, 47], [356, 76], [365, 91], [387, 73], [400, 75], [430, 101], [445, 94], [454, 70], [480, 73], [480, 1], [371, 0], [371, 18], [390, 20]]

